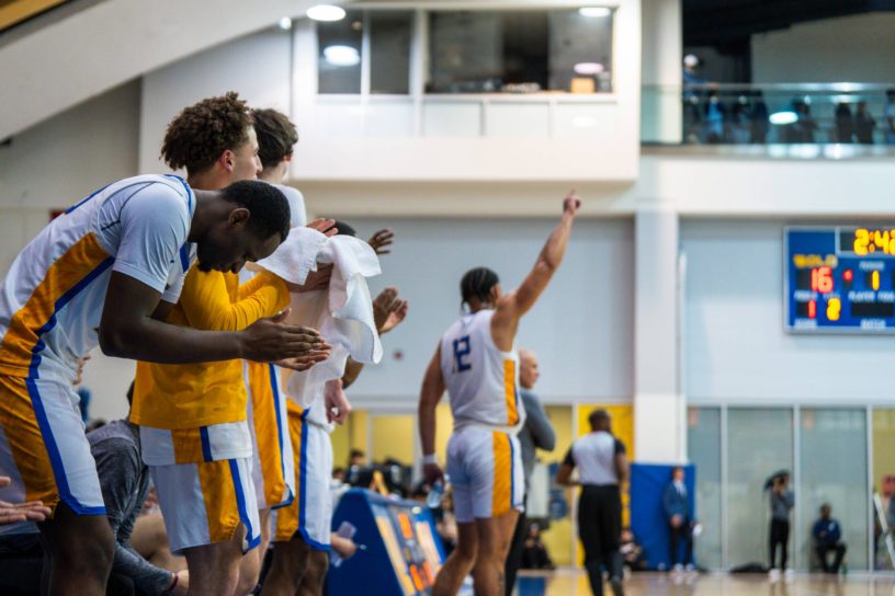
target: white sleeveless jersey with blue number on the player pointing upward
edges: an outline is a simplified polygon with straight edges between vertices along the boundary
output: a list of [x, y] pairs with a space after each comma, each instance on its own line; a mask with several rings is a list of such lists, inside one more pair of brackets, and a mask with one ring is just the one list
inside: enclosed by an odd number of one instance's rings
[[441, 374], [454, 429], [477, 424], [518, 431], [525, 421], [519, 399], [519, 354], [516, 347], [501, 352], [495, 345], [494, 312], [464, 314], [441, 339]]

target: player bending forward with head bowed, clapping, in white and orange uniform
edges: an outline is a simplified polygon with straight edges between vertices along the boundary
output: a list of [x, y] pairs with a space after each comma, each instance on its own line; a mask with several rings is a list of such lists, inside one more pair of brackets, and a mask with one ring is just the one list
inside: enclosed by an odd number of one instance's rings
[[0, 474], [12, 482], [0, 501], [53, 511], [38, 526], [50, 593], [104, 592], [114, 547], [70, 387], [78, 358], [98, 344], [167, 363], [306, 354], [317, 334], [272, 320], [238, 333], [161, 321], [194, 254], [202, 268], [238, 271], [279, 245], [287, 217], [267, 184], [194, 192], [175, 176], [136, 176], [77, 203], [12, 263], [0, 289]]

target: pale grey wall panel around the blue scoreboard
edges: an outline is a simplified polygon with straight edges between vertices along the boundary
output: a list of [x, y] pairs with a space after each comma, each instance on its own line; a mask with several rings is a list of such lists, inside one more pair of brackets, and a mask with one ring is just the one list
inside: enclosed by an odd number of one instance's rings
[[784, 333], [783, 227], [683, 221], [688, 400], [892, 404], [891, 336]]

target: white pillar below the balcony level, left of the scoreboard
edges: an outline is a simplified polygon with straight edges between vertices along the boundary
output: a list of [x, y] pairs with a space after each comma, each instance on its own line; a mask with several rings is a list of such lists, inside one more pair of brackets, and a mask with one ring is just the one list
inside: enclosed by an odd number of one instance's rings
[[635, 215], [634, 442], [637, 461], [687, 455], [679, 390], [678, 214], [644, 207]]

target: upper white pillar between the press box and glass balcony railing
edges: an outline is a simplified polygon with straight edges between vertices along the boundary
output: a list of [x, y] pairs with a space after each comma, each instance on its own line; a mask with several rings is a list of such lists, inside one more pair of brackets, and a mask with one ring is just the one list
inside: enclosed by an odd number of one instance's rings
[[641, 139], [677, 145], [682, 137], [681, 0], [644, 0]]

